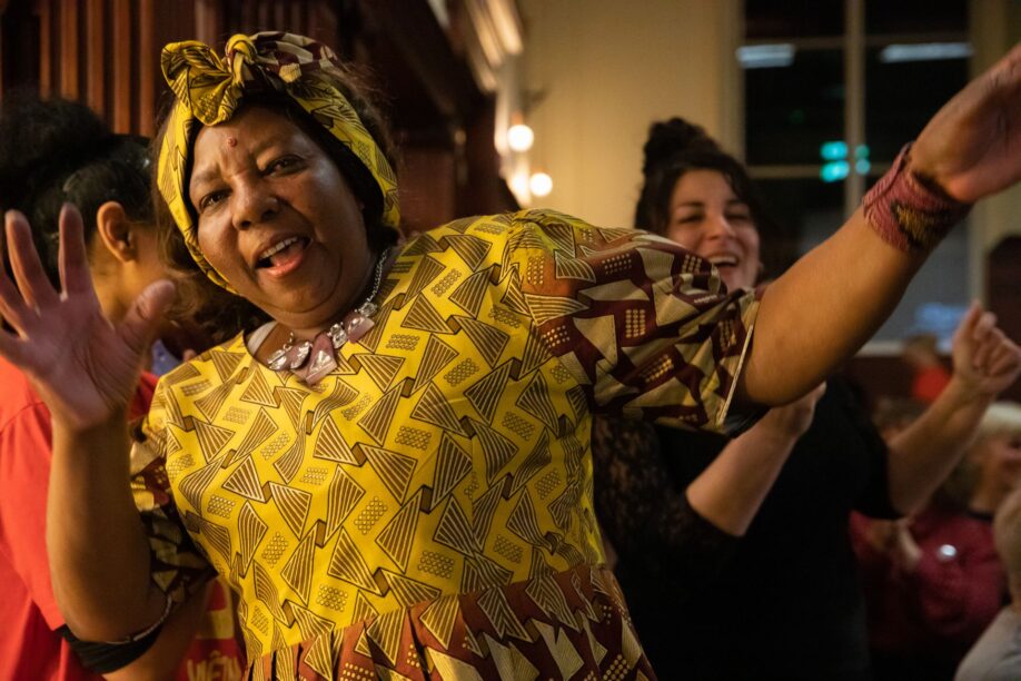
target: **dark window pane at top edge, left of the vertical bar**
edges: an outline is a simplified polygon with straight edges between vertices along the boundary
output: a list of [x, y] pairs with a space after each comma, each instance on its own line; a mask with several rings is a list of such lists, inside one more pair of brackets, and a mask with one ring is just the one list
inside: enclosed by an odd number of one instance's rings
[[844, 3], [839, 0], [745, 0], [745, 36], [804, 38], [839, 36], [844, 30]]

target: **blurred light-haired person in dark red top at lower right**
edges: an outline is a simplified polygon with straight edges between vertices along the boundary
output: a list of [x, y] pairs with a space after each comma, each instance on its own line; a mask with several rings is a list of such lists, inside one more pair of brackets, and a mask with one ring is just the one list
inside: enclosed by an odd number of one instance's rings
[[995, 403], [930, 503], [852, 519], [878, 681], [951, 679], [1007, 593], [992, 517], [1021, 481], [1021, 405]]

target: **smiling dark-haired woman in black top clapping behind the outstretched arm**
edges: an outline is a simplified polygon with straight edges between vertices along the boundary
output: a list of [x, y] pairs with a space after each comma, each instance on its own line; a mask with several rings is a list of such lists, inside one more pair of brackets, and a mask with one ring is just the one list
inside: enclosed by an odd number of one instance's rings
[[[728, 289], [754, 287], [770, 221], [745, 168], [675, 118], [652, 126], [644, 175], [635, 226], [713, 263]], [[1019, 371], [1018, 347], [974, 306], [951, 383], [889, 448], [840, 379], [732, 441], [597, 418], [596, 512], [657, 673], [869, 678], [849, 514], [924, 503]]]

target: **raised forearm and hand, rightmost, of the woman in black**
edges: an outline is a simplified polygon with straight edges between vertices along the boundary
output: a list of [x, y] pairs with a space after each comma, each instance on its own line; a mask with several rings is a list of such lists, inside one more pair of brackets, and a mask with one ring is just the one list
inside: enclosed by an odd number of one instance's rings
[[1021, 374], [1021, 348], [973, 304], [953, 337], [953, 376], [936, 401], [890, 442], [890, 501], [921, 507], [958, 464], [982, 415]]

